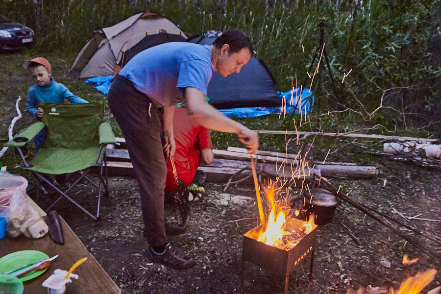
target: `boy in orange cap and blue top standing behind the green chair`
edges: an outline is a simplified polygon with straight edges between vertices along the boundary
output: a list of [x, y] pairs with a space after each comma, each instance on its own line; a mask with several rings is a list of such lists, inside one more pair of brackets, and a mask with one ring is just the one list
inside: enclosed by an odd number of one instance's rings
[[[52, 68], [48, 60], [43, 57], [37, 57], [31, 60], [25, 61], [23, 67], [29, 71], [29, 75], [35, 82], [35, 85], [30, 87], [27, 91], [26, 112], [34, 116], [37, 121], [41, 121], [41, 117], [44, 114], [39, 104], [41, 102], [53, 102], [64, 103], [64, 99], [68, 99], [70, 103], [87, 103], [86, 100], [79, 98], [71, 93], [65, 85], [57, 83], [52, 77]], [[48, 136], [48, 130], [45, 127], [35, 137], [34, 144], [35, 149], [38, 151], [43, 145], [43, 142]], [[45, 178], [50, 178], [49, 175], [44, 175]], [[60, 174], [55, 177], [57, 183], [63, 184], [66, 181], [66, 175]], [[46, 185], [46, 182], [41, 182], [43, 190], [45, 192], [53, 192], [50, 186]], [[69, 185], [65, 183], [65, 185]], [[62, 189], [69, 186], [62, 186]], [[46, 188], [46, 189], [45, 189]], [[49, 191], [47, 191], [49, 190]]]

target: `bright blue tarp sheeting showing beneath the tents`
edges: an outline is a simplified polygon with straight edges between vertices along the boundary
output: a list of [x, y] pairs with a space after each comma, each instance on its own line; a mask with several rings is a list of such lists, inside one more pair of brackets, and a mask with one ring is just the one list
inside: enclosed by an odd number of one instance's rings
[[[84, 83], [92, 83], [95, 88], [107, 95], [109, 87], [112, 82], [112, 76], [98, 76], [87, 79]], [[292, 115], [299, 113], [299, 107], [301, 107], [301, 113], [304, 115], [309, 114], [314, 109], [314, 96], [309, 89], [303, 89], [300, 96], [300, 88], [293, 89], [288, 92], [277, 92], [280, 96], [280, 105], [286, 105], [286, 114]], [[300, 105], [298, 101], [300, 100]], [[280, 107], [240, 107], [230, 109], [218, 109], [221, 113], [229, 118], [254, 118], [259, 116], [265, 116], [269, 114], [284, 114], [284, 109]]]

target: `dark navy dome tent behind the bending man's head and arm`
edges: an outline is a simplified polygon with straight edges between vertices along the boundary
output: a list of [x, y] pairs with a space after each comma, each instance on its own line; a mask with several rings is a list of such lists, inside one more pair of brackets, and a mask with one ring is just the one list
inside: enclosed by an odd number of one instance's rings
[[[212, 45], [216, 38], [193, 36], [188, 42]], [[210, 103], [218, 109], [281, 106], [272, 73], [262, 60], [254, 57], [242, 67], [240, 73], [223, 77], [215, 72], [208, 84], [207, 96]]]

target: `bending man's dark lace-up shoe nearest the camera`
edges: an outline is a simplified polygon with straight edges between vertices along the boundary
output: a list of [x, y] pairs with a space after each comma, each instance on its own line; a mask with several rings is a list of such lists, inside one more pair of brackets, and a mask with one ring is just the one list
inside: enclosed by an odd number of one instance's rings
[[179, 252], [169, 243], [164, 252], [156, 253], [152, 247], [148, 248], [147, 256], [152, 261], [157, 261], [175, 269], [190, 268], [195, 264], [195, 260], [185, 253]]

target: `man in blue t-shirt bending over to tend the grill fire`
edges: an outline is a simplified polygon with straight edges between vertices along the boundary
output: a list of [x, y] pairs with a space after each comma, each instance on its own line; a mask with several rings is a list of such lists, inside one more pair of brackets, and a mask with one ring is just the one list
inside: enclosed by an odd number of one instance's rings
[[164, 223], [166, 160], [173, 157], [176, 149], [176, 104], [185, 100], [188, 114], [203, 127], [236, 133], [250, 153], [259, 146], [257, 133], [227, 118], [205, 99], [213, 73], [239, 73], [252, 52], [248, 36], [238, 30], [223, 33], [211, 46], [166, 43], [138, 53], [110, 86], [107, 100], [123, 132], [138, 179], [150, 245], [147, 256], [151, 260], [173, 268], [188, 268], [195, 263], [170, 245], [167, 233], [176, 230]]

